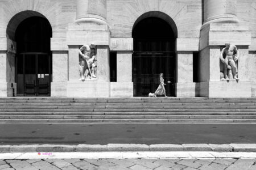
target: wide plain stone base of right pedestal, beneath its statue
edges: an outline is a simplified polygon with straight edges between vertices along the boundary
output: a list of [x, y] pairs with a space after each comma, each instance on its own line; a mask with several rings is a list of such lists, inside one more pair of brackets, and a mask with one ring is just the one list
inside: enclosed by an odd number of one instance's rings
[[201, 97], [251, 97], [251, 82], [200, 82], [196, 86]]

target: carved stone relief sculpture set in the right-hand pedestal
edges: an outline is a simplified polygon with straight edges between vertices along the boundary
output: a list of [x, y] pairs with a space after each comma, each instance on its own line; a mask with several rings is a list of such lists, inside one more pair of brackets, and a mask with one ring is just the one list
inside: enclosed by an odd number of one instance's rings
[[239, 52], [236, 45], [226, 43], [221, 48], [220, 54], [220, 78], [221, 80], [238, 80], [238, 57]]

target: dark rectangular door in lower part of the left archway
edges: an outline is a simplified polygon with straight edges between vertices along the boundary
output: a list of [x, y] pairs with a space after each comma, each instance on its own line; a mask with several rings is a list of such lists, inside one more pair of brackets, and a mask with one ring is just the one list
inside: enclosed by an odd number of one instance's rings
[[50, 96], [51, 57], [48, 54], [26, 54], [17, 56], [17, 95]]

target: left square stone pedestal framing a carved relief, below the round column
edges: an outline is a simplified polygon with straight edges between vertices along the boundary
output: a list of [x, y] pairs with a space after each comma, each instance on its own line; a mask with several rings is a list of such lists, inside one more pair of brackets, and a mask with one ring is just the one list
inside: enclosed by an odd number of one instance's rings
[[[79, 81], [79, 48], [95, 44], [96, 79]], [[67, 31], [68, 82], [67, 97], [110, 97], [109, 27], [97, 23], [69, 24]]]

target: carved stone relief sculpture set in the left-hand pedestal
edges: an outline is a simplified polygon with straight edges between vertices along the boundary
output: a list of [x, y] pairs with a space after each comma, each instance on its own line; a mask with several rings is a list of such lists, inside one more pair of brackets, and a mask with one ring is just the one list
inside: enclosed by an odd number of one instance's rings
[[92, 80], [97, 78], [96, 45], [83, 45], [79, 49], [79, 80]]

